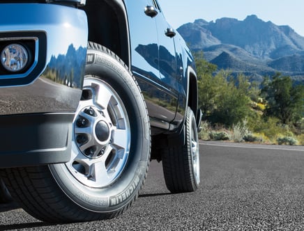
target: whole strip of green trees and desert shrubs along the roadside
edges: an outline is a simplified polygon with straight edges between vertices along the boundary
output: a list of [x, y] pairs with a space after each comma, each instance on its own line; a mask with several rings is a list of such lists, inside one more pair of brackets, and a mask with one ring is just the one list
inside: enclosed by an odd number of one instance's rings
[[280, 73], [250, 81], [195, 54], [203, 140], [304, 145], [304, 86]]

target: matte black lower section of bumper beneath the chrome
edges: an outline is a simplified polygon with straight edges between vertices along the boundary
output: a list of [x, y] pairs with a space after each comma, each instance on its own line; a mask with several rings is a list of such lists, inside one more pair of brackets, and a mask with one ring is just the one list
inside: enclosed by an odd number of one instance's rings
[[74, 113], [2, 116], [0, 168], [70, 160]]

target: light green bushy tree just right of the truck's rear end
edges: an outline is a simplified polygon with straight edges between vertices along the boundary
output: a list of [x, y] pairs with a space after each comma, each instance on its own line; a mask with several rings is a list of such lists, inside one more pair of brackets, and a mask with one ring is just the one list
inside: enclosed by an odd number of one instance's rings
[[199, 107], [203, 119], [231, 127], [250, 114], [251, 84], [245, 75], [234, 78], [230, 72], [208, 63], [202, 52], [195, 54], [198, 75]]

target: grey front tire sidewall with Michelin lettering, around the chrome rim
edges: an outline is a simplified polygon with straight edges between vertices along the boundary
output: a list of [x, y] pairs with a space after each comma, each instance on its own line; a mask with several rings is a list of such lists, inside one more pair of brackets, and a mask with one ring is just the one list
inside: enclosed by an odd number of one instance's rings
[[[142, 186], [150, 158], [150, 128], [146, 105], [126, 67], [105, 51], [88, 49], [86, 76], [105, 81], [120, 95], [130, 120], [130, 154], [123, 173], [111, 185], [93, 189], [75, 179], [65, 164], [50, 165], [61, 190], [77, 205], [93, 212], [121, 209], [134, 200]], [[73, 144], [75, 145], [75, 144]]]

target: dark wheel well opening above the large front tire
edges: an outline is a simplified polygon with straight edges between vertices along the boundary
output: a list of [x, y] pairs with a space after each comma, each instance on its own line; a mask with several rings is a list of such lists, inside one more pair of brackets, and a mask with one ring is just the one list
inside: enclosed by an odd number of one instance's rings
[[113, 51], [130, 69], [130, 36], [126, 7], [121, 0], [87, 0], [89, 38]]

